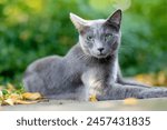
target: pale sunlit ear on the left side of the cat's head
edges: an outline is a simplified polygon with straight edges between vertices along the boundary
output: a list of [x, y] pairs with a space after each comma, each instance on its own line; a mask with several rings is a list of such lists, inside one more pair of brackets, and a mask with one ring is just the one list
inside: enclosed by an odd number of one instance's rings
[[70, 12], [70, 19], [78, 31], [82, 31], [87, 24], [87, 20]]

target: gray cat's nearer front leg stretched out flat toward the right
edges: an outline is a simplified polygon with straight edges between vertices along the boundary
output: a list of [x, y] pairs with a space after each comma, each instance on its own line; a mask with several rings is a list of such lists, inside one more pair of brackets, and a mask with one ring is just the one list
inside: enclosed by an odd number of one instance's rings
[[167, 88], [140, 87], [140, 86], [122, 86], [115, 83], [114, 86], [104, 89], [98, 100], [120, 100], [125, 98], [163, 98], [167, 97]]

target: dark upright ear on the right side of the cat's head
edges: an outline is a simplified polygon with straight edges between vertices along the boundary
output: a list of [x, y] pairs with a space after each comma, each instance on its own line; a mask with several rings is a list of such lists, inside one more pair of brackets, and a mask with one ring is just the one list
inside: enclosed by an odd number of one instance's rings
[[120, 27], [120, 22], [121, 22], [121, 10], [120, 9], [118, 9], [110, 17], [107, 18], [107, 23], [109, 23], [109, 24], [116, 24], [116, 26]]

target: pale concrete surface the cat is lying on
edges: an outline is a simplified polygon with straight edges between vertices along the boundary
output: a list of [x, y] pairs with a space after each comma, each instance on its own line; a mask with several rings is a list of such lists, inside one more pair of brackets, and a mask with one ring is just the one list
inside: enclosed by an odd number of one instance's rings
[[167, 111], [167, 98], [137, 100], [125, 104], [124, 100], [97, 102], [49, 100], [36, 104], [3, 106], [1, 111]]

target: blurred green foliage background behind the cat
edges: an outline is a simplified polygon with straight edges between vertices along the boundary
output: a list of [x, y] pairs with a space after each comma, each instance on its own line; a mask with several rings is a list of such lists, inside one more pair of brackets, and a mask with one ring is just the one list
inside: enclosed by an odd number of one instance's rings
[[86, 19], [124, 10], [125, 76], [167, 70], [167, 0], [0, 0], [0, 83], [21, 81], [36, 59], [63, 56], [78, 40], [69, 12]]

